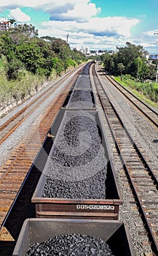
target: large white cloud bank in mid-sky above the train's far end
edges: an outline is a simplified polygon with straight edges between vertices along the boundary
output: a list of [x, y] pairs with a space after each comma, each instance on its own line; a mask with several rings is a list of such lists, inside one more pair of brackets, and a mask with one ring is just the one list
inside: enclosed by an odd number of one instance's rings
[[87, 22], [51, 20], [43, 22], [43, 29], [39, 29], [39, 36], [49, 34], [66, 40], [72, 48], [114, 50], [116, 45], [125, 45], [131, 36], [130, 29], [139, 23], [138, 19], [126, 17], [89, 18]]

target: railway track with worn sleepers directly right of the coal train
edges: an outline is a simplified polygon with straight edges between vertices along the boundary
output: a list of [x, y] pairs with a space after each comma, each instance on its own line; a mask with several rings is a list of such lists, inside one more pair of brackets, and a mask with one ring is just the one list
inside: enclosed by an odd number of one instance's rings
[[[128, 129], [125, 127], [125, 124], [123, 124], [121, 118], [119, 117], [119, 113], [116, 112], [114, 105], [106, 94], [106, 90], [100, 83], [94, 67], [92, 72], [100, 103], [106, 115], [106, 120], [111, 129], [111, 135], [114, 138], [116, 149], [122, 160], [122, 165], [130, 183], [130, 187], [133, 190], [133, 195], [135, 196], [138, 209], [141, 213], [141, 218], [143, 219], [143, 223], [146, 227], [146, 232], [148, 233], [151, 247], [153, 251], [157, 253], [157, 177], [154, 175], [154, 171], [151, 170], [148, 162], [146, 162], [146, 159], [143, 157], [142, 149], [139, 150], [138, 145], [136, 145], [133, 138], [130, 136]], [[132, 97], [130, 96], [130, 98]], [[151, 110], [146, 110], [146, 112], [151, 113]], [[157, 117], [157, 113], [154, 113], [153, 115], [153, 124], [157, 125], [155, 124], [155, 120], [157, 119], [155, 116]], [[150, 116], [150, 121], [152, 121], [152, 118]]]

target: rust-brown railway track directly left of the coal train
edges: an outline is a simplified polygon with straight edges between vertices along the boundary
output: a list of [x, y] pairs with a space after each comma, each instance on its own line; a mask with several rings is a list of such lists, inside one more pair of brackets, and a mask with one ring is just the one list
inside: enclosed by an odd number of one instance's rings
[[[68, 80], [66, 86], [62, 89], [61, 93], [55, 97], [51, 105], [47, 108], [46, 113], [42, 118], [40, 123], [40, 127], [31, 129], [31, 134], [28, 135], [28, 138], [17, 147], [16, 151], [12, 154], [11, 157], [5, 163], [3, 169], [4, 174], [0, 179], [0, 224], [2, 232], [5, 222], [7, 221], [7, 217], [9, 213], [12, 211], [12, 207], [15, 205], [18, 195], [20, 194], [21, 189], [23, 188], [25, 181], [28, 178], [30, 173], [31, 165], [33, 161], [31, 158], [35, 158], [39, 149], [42, 147], [42, 143], [46, 136], [49, 137], [47, 132], [49, 131], [52, 121], [55, 118], [56, 114], [60, 110], [65, 101], [68, 92], [70, 91], [72, 85], [76, 80], [76, 76], [79, 75], [79, 72], [76, 72], [71, 80]], [[40, 132], [40, 137], [42, 141], [39, 141], [39, 136], [36, 136], [37, 129]], [[34, 145], [34, 146], [33, 146]], [[27, 148], [27, 150], [26, 150]], [[30, 151], [30, 152], [29, 152]], [[25, 162], [25, 165], [23, 165]], [[14, 180], [12, 179], [12, 174], [14, 173]], [[2, 195], [5, 195], [2, 197]], [[3, 198], [3, 199], [2, 199]], [[8, 200], [7, 200], [8, 198]], [[7, 206], [7, 207], [6, 207]]]

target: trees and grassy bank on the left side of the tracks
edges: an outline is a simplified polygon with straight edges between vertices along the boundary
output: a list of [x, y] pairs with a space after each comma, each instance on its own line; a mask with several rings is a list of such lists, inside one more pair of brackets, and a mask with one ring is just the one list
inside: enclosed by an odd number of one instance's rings
[[32, 25], [0, 31], [0, 108], [24, 99], [44, 80], [55, 80], [76, 67], [85, 56], [55, 37], [38, 37]]

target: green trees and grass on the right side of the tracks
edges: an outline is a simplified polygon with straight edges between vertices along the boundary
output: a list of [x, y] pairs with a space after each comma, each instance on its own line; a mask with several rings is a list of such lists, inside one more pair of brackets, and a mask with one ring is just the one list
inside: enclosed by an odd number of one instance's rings
[[158, 84], [154, 82], [157, 62], [146, 59], [146, 56], [142, 46], [127, 42], [124, 48], [117, 48], [116, 53], [101, 56], [101, 60], [109, 75], [114, 75], [125, 86], [157, 103]]

